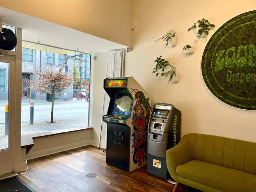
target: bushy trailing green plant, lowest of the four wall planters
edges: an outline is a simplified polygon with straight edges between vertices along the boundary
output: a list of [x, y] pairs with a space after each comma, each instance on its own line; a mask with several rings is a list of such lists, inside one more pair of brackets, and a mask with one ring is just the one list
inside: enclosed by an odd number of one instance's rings
[[[169, 76], [169, 81], [172, 80], [173, 76], [176, 74], [176, 68], [174, 67], [174, 64], [170, 64], [168, 61], [163, 59], [162, 56], [157, 57], [157, 59], [154, 61], [154, 63], [157, 63], [153, 69], [152, 73], [156, 73], [155, 75], [158, 76], [161, 74], [161, 76]], [[177, 63], [177, 62], [176, 62]], [[167, 67], [170, 67], [170, 70], [166, 69]], [[160, 70], [160, 72], [159, 72]]]

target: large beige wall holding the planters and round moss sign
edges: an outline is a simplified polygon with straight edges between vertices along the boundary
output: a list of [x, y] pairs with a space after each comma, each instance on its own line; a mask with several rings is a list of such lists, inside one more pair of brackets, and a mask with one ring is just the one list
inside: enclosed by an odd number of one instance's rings
[[[255, 9], [255, 0], [135, 1], [133, 46], [126, 54], [125, 76], [133, 76], [151, 94], [153, 103], [172, 103], [181, 110], [182, 136], [196, 132], [256, 142], [256, 111], [233, 108], [211, 94], [200, 65], [206, 42], [195, 44], [195, 34], [187, 32], [194, 22], [207, 18], [216, 26], [211, 36], [227, 20]], [[163, 42], [154, 41], [169, 27], [176, 32], [177, 46], [164, 49]], [[182, 57], [182, 48], [187, 44], [195, 48], [195, 53]], [[167, 79], [152, 74], [154, 60], [160, 55], [171, 63], [178, 61], [178, 84], [167, 84]]]

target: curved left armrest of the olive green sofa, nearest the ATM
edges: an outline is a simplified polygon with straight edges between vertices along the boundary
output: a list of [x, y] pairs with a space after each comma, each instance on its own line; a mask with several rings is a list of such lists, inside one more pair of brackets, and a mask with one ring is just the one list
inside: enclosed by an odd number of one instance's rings
[[182, 138], [176, 146], [166, 151], [167, 169], [171, 177], [176, 181], [178, 178], [176, 167], [191, 160], [191, 150], [187, 138]]

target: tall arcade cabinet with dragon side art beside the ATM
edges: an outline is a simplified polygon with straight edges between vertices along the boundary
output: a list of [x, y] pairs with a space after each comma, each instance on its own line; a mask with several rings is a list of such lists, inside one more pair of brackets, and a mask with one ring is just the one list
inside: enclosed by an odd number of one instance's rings
[[131, 172], [147, 164], [147, 127], [151, 96], [133, 77], [104, 79], [110, 97], [106, 163]]

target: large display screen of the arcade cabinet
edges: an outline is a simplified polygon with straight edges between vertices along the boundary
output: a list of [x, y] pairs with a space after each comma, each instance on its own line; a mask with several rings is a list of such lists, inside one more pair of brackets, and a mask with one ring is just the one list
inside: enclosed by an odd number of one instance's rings
[[129, 93], [117, 93], [113, 103], [111, 114], [131, 116], [132, 98]]

